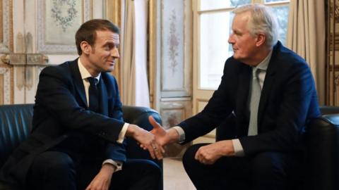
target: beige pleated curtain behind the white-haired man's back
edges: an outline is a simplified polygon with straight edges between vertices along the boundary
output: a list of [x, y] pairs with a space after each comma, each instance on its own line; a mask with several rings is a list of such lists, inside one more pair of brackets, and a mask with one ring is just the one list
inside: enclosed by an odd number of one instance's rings
[[321, 105], [325, 103], [325, 28], [324, 1], [290, 1], [287, 47], [309, 63]]

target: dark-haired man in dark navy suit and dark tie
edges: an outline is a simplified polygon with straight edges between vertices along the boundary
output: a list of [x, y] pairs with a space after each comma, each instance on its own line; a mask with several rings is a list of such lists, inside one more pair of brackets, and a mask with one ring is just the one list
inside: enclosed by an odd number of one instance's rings
[[44, 68], [35, 96], [32, 134], [1, 179], [28, 189], [157, 189], [160, 168], [126, 160], [124, 137], [162, 158], [154, 135], [123, 121], [117, 81], [119, 28], [89, 20], [76, 32], [79, 58]]

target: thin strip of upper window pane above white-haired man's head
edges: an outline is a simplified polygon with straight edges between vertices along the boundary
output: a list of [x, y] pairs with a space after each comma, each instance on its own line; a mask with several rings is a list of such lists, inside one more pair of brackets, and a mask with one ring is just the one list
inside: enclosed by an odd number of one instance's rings
[[201, 11], [210, 10], [215, 8], [230, 8], [234, 6], [250, 4], [251, 0], [201, 0]]

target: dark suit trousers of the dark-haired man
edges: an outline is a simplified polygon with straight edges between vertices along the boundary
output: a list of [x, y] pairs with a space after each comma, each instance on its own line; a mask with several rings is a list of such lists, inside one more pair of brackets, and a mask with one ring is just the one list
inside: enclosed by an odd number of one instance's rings
[[[61, 151], [46, 151], [35, 158], [28, 173], [29, 189], [85, 189], [102, 166], [102, 159], [73, 159]], [[112, 175], [110, 189], [157, 189], [160, 168], [151, 160], [127, 160]]]

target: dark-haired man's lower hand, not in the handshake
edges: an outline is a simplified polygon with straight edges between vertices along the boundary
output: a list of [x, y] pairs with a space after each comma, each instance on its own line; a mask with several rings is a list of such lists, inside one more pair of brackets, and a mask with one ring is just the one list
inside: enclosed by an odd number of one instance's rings
[[116, 167], [109, 163], [102, 165], [100, 172], [90, 182], [85, 190], [108, 190]]

